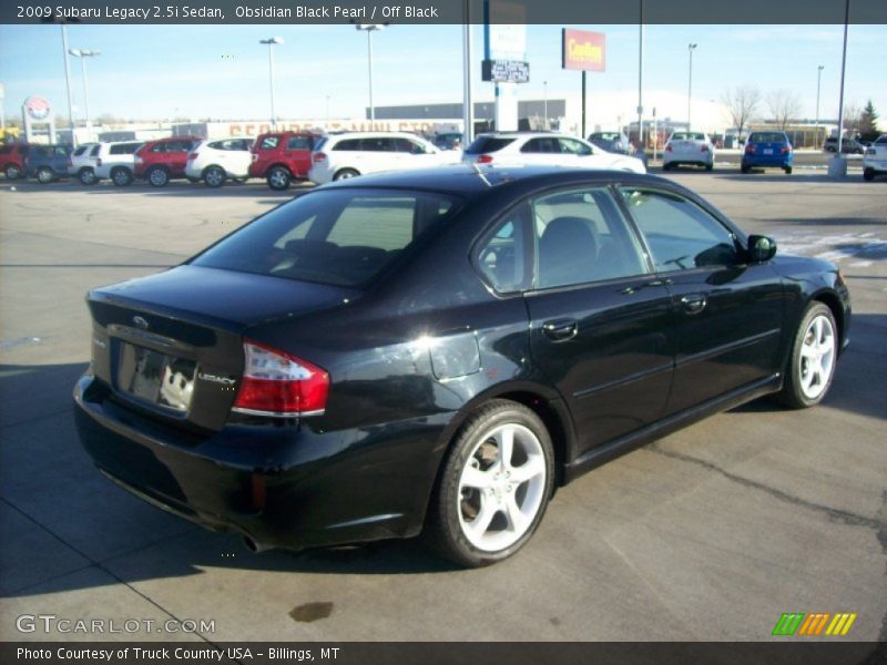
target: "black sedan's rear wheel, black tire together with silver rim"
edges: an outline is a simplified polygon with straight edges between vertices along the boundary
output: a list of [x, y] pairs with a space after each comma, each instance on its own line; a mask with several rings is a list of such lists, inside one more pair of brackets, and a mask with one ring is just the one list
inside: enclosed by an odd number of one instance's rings
[[[507, 431], [512, 432], [514, 452], [502, 466], [495, 436]], [[471, 485], [466, 473], [490, 484]], [[531, 475], [512, 480], [511, 473]], [[554, 452], [546, 426], [523, 405], [490, 400], [469, 416], [445, 458], [424, 536], [440, 555], [463, 566], [502, 561], [532, 538], [553, 487]], [[472, 531], [478, 520], [482, 526]], [[472, 540], [489, 546], [479, 548]], [[497, 548], [499, 543], [504, 546]]]

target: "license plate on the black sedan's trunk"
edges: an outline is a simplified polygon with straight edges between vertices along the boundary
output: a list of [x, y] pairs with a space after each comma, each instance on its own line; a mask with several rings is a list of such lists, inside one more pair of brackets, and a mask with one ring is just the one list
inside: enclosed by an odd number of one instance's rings
[[187, 411], [197, 364], [123, 344], [118, 386], [132, 397], [175, 411]]

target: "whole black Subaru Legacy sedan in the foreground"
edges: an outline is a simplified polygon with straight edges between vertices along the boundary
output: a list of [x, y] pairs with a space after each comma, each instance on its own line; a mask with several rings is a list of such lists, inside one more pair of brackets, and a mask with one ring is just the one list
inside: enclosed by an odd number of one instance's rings
[[88, 304], [113, 481], [253, 550], [424, 533], [468, 566], [622, 452], [816, 405], [850, 320], [834, 265], [672, 182], [526, 167], [323, 186]]

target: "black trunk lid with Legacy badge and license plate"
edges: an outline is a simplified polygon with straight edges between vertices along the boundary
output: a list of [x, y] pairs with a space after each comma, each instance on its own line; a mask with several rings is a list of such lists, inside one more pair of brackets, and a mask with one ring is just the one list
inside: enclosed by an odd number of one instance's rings
[[179, 266], [88, 296], [92, 367], [119, 403], [204, 430], [225, 426], [259, 324], [333, 307], [335, 286]]

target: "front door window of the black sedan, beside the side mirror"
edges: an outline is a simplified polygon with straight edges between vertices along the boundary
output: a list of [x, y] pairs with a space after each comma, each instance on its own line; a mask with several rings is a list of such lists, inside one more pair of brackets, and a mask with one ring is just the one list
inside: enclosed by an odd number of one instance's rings
[[695, 203], [665, 192], [622, 187], [659, 272], [728, 266], [738, 260], [733, 233]]

